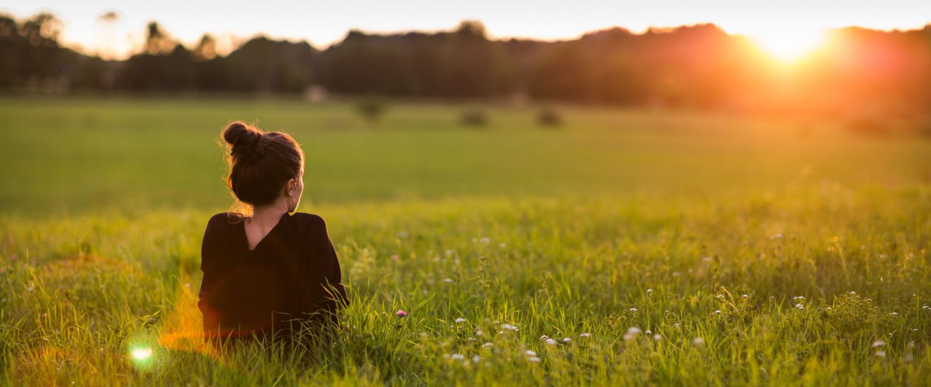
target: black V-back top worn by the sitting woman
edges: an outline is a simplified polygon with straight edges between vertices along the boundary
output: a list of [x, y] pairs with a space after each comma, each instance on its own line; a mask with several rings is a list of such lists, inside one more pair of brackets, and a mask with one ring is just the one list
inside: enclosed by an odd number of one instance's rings
[[250, 250], [245, 222], [231, 222], [236, 217], [216, 214], [204, 232], [197, 308], [206, 337], [290, 333], [296, 320], [335, 322], [338, 303], [348, 300], [323, 219], [285, 213]]

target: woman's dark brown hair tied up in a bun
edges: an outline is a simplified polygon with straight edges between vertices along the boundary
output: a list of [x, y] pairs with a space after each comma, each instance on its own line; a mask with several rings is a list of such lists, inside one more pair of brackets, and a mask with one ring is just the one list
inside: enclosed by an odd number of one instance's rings
[[234, 121], [223, 129], [223, 140], [230, 166], [226, 186], [251, 207], [274, 202], [285, 182], [301, 174], [304, 151], [287, 133]]

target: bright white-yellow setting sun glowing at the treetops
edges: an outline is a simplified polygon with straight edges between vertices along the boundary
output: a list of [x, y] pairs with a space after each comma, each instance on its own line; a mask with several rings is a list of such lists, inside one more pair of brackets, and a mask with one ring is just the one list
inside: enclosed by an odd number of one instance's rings
[[823, 29], [786, 28], [748, 33], [757, 46], [773, 59], [782, 63], [795, 63], [824, 46], [827, 31]]

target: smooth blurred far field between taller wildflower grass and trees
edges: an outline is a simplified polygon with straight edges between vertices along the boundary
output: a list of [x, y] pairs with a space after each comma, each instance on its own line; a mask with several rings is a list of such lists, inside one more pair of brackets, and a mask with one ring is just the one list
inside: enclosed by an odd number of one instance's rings
[[0, 211], [223, 209], [220, 130], [287, 130], [317, 203], [577, 193], [776, 193], [789, 185], [892, 188], [931, 181], [931, 141], [852, 137], [834, 123], [726, 114], [388, 104], [368, 125], [345, 103], [302, 100], [0, 100]]

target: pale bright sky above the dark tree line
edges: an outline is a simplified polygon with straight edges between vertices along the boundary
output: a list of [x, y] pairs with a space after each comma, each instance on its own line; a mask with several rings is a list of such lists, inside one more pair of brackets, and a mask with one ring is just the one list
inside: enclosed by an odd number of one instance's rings
[[[643, 32], [712, 22], [728, 33], [763, 41], [808, 39], [825, 29], [860, 26], [914, 29], [931, 23], [931, 0], [335, 0], [122, 1], [5, 0], [0, 13], [25, 19], [50, 11], [64, 23], [61, 41], [106, 58], [126, 58], [142, 47], [155, 20], [172, 37], [194, 46], [203, 33], [219, 37], [221, 52], [258, 33], [307, 40], [325, 48], [351, 29], [370, 33], [450, 30], [480, 20], [493, 38], [572, 39], [621, 26]], [[101, 15], [115, 11], [118, 20]]]

